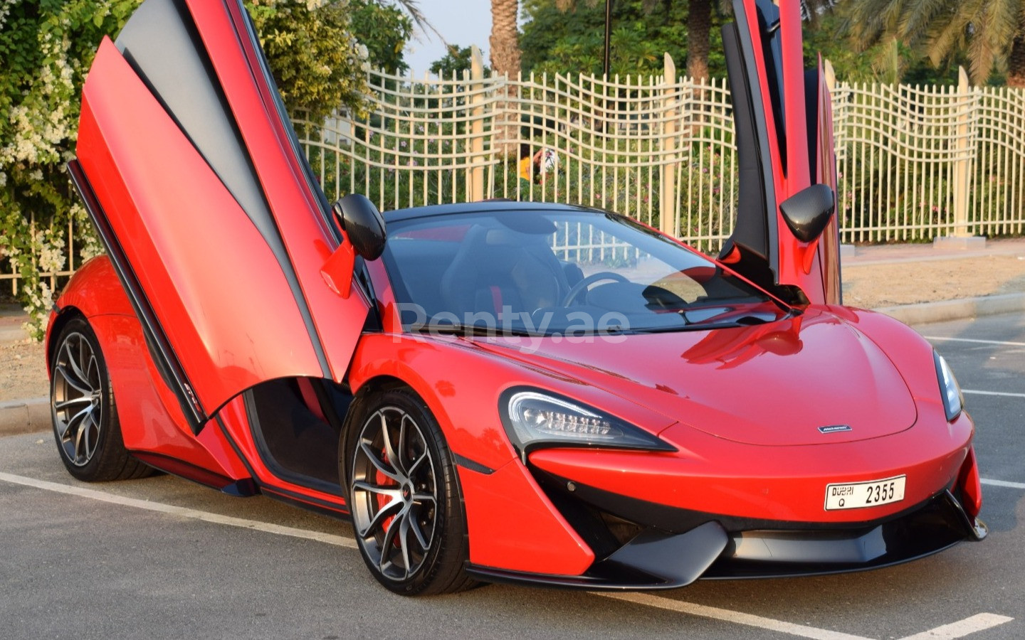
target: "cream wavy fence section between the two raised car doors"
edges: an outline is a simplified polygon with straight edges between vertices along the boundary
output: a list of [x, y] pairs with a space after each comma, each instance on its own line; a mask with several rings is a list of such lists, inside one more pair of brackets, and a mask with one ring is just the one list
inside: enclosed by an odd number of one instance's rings
[[[369, 118], [296, 129], [329, 197], [381, 209], [506, 198], [630, 215], [714, 250], [729, 236], [736, 152], [725, 81], [372, 74]], [[535, 166], [555, 152], [552, 168]], [[526, 162], [521, 162], [524, 158]]]

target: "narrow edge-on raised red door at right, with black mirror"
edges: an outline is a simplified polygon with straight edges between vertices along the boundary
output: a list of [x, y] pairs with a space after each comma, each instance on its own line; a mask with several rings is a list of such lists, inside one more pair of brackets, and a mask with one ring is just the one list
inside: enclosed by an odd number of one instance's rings
[[740, 191], [720, 258], [784, 299], [839, 304], [836, 170], [822, 65], [804, 69], [798, 2], [733, 0], [733, 10], [723, 43]]

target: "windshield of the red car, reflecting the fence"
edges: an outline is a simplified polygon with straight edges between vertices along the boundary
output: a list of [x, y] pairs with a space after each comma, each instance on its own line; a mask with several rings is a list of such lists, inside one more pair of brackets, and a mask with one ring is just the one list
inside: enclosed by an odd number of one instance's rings
[[711, 260], [615, 214], [512, 210], [388, 223], [407, 331], [587, 335], [755, 325], [788, 310]]

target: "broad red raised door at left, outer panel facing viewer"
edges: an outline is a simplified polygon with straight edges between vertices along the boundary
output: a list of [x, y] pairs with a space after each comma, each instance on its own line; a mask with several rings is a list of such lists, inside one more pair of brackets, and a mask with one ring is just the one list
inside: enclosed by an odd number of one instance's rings
[[[369, 311], [240, 0], [147, 0], [100, 44], [72, 176], [195, 432], [281, 377], [340, 380]], [[347, 294], [347, 292], [346, 292]]]

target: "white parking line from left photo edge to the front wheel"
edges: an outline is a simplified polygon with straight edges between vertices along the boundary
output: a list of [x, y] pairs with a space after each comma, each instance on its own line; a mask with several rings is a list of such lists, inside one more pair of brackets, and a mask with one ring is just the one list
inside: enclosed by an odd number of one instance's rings
[[23, 486], [32, 486], [34, 488], [41, 488], [47, 492], [54, 492], [57, 494], [67, 494], [69, 496], [77, 496], [79, 498], [89, 498], [91, 500], [98, 500], [100, 502], [107, 502], [114, 505], [121, 505], [124, 507], [134, 507], [136, 509], [146, 509], [147, 511], [156, 511], [158, 513], [166, 513], [169, 515], [181, 516], [183, 518], [192, 518], [194, 520], [203, 520], [204, 522], [213, 522], [215, 524], [227, 524], [229, 526], [238, 526], [241, 528], [255, 529], [268, 534], [277, 534], [278, 536], [290, 536], [291, 538], [302, 538], [304, 540], [313, 540], [317, 542], [327, 543], [329, 545], [334, 545], [336, 547], [347, 547], [350, 549], [356, 549], [355, 540], [350, 540], [348, 538], [344, 538], [342, 536], [335, 536], [334, 534], [311, 531], [308, 529], [296, 528], [294, 526], [271, 524], [269, 522], [260, 522], [258, 520], [247, 520], [245, 518], [236, 518], [230, 515], [209, 513], [207, 511], [199, 511], [198, 509], [189, 509], [187, 507], [175, 507], [174, 505], [167, 505], [159, 502], [151, 502], [149, 500], [125, 498], [123, 496], [115, 496], [114, 494], [106, 494], [104, 492], [97, 492], [92, 488], [85, 488], [83, 486], [75, 486], [72, 484], [60, 484], [57, 482], [50, 482], [47, 480], [37, 480], [36, 478], [29, 478], [22, 475], [14, 475], [12, 473], [4, 473], [2, 471], [0, 471], [0, 480], [3, 480], [5, 482], [10, 482], [11, 484], [22, 484]]

